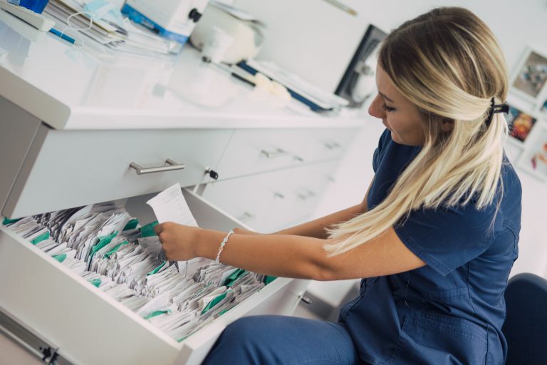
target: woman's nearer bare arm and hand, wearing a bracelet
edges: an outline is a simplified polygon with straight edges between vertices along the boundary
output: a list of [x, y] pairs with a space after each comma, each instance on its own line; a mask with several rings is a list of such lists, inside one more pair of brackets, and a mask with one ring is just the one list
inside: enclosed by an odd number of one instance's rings
[[[166, 222], [155, 227], [167, 259], [215, 259], [226, 232]], [[295, 235], [231, 235], [220, 261], [278, 277], [315, 280], [357, 279], [424, 266], [390, 228], [369, 242], [335, 257], [323, 245], [332, 240]]]

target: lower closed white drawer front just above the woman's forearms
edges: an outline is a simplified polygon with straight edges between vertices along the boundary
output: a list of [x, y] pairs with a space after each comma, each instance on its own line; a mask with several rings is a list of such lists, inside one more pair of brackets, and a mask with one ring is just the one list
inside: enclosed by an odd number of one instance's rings
[[318, 205], [336, 161], [211, 183], [203, 197], [252, 230], [274, 232], [303, 222]]

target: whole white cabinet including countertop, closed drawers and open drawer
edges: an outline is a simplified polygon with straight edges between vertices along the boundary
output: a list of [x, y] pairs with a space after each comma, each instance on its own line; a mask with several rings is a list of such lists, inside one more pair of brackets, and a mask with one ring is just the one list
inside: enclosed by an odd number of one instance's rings
[[[11, 55], [0, 57], [3, 217], [129, 198], [127, 210], [150, 222], [140, 200], [181, 183], [204, 186], [202, 197], [185, 192], [202, 227], [229, 230], [244, 225], [239, 218], [281, 228], [306, 219], [360, 123], [273, 108], [239, 84], [232, 105], [201, 108], [170, 90], [173, 68], [190, 63], [94, 58], [85, 47], [76, 54], [54, 37], [28, 41], [24, 24], [3, 19], [0, 49]], [[135, 72], [124, 78], [128, 68]], [[120, 82], [104, 87], [107, 73]], [[184, 169], [135, 170], [171, 164]], [[1, 312], [58, 349], [57, 364], [198, 364], [226, 324], [291, 314], [307, 285], [278, 278], [177, 342], [5, 227], [0, 277]]]

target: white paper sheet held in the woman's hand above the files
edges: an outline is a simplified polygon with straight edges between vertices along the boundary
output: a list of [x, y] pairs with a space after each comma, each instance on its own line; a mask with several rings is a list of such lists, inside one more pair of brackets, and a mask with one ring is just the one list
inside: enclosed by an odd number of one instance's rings
[[[148, 200], [146, 204], [152, 207], [152, 210], [154, 210], [154, 214], [157, 217], [157, 221], [160, 223], [174, 222], [179, 225], [197, 227], [197, 222], [182, 195], [180, 183], [167, 187], [167, 189], [160, 192], [160, 194]], [[195, 266], [201, 265], [202, 260], [203, 259], [197, 257], [189, 261], [179, 261], [179, 272], [186, 276], [187, 272], [194, 271], [193, 268]]]

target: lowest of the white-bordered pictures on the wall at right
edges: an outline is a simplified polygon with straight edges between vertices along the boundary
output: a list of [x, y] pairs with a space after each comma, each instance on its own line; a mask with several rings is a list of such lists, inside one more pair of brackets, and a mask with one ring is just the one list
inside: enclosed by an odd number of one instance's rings
[[530, 140], [526, 141], [518, 165], [540, 180], [547, 181], [547, 123], [540, 123]]

